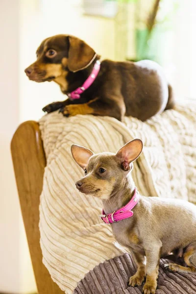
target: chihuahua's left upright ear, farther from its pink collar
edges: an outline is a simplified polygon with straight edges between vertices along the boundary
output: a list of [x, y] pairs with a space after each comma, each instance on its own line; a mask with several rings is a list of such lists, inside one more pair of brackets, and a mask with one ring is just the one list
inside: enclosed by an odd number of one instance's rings
[[94, 155], [93, 151], [91, 151], [90, 149], [76, 144], [73, 144], [71, 146], [71, 151], [73, 159], [82, 169], [85, 169], [88, 164], [89, 158]]

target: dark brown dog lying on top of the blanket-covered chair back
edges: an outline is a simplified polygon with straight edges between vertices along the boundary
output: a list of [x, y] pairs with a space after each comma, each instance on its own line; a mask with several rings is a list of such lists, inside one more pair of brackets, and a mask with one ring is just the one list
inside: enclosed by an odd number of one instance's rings
[[[84, 41], [69, 35], [47, 38], [37, 49], [37, 60], [25, 69], [30, 80], [54, 81], [63, 94], [82, 87], [92, 75], [100, 56]], [[82, 88], [83, 89], [83, 88]], [[43, 108], [60, 110], [64, 116], [93, 114], [111, 116], [120, 121], [133, 116], [147, 120], [172, 108], [172, 88], [162, 68], [150, 60], [115, 62], [103, 60], [98, 76], [80, 99], [66, 99]]]

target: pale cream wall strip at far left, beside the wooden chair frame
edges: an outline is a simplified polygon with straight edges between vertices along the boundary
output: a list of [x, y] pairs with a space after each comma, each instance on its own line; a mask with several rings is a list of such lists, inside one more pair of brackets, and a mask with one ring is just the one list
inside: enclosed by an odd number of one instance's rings
[[0, 1], [0, 48], [0, 292], [28, 293], [35, 283], [10, 154], [19, 124], [19, 0]]

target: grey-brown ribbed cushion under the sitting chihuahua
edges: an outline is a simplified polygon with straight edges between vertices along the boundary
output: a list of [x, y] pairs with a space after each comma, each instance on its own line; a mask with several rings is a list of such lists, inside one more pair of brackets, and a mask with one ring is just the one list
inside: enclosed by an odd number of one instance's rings
[[[196, 294], [196, 275], [172, 273], [163, 269], [168, 260], [160, 261], [156, 294]], [[115, 257], [95, 267], [82, 279], [74, 294], [141, 294], [140, 287], [128, 287], [129, 277], [136, 271], [130, 254]]]

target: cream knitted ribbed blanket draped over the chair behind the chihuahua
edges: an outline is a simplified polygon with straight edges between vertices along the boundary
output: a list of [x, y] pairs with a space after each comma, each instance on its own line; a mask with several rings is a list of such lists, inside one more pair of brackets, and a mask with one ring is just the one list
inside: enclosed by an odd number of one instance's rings
[[47, 157], [40, 199], [43, 262], [66, 294], [89, 270], [124, 252], [110, 226], [98, 219], [101, 201], [75, 188], [83, 172], [72, 158], [73, 143], [95, 153], [116, 152], [141, 138], [144, 151], [132, 172], [140, 194], [196, 203], [196, 104], [177, 106], [145, 123], [53, 112], [41, 119], [40, 129]]

